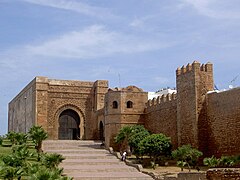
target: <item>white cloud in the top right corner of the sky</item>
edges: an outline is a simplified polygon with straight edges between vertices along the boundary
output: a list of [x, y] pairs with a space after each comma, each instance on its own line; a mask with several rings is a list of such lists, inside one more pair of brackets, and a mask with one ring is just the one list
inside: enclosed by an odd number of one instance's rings
[[[216, 19], [239, 19], [240, 9], [238, 0], [182, 0], [184, 5], [190, 5], [198, 13]], [[229, 8], [231, 6], [231, 8]], [[184, 7], [184, 6], [181, 6]]]

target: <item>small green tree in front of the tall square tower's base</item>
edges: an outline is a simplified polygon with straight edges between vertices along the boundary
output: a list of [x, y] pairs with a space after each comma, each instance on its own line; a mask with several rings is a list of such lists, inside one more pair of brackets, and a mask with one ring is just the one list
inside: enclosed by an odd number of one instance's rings
[[[177, 161], [186, 162], [189, 171], [191, 169], [191, 166], [195, 167], [197, 165], [198, 158], [202, 155], [203, 153], [201, 151], [192, 148], [191, 145], [183, 145], [172, 152], [172, 157], [174, 159]], [[179, 162], [177, 162], [177, 164], [179, 164]]]

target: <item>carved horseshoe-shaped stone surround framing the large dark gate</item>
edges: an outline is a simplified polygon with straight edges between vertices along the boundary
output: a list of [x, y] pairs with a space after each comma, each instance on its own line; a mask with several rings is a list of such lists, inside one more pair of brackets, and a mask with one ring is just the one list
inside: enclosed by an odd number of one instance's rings
[[80, 123], [79, 123], [80, 134], [79, 134], [78, 138], [79, 139], [84, 139], [85, 138], [85, 115], [81, 111], [80, 108], [78, 108], [77, 106], [72, 105], [72, 104], [63, 105], [60, 108], [58, 108], [58, 110], [56, 111], [56, 113], [54, 115], [54, 120], [55, 120], [54, 131], [56, 132], [55, 138], [59, 139], [59, 127], [60, 127], [59, 118], [60, 118], [60, 115], [63, 112], [66, 112], [68, 110], [76, 112], [76, 114], [79, 116], [79, 118], [80, 118]]

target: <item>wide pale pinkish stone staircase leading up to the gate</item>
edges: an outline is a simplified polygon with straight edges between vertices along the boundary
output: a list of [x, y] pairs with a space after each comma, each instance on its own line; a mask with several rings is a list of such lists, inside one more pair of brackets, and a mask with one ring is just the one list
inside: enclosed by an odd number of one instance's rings
[[125, 165], [100, 145], [101, 142], [97, 141], [47, 140], [43, 142], [43, 150], [62, 154], [66, 159], [60, 166], [64, 168], [64, 174], [74, 180], [152, 179], [134, 167]]

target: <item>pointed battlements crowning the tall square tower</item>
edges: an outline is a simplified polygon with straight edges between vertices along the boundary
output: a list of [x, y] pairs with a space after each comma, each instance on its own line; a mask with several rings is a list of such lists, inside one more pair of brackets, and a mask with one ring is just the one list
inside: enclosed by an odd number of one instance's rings
[[192, 64], [187, 64], [187, 66], [182, 66], [181, 68], [177, 68], [176, 75], [180, 76], [182, 74], [186, 74], [188, 72], [210, 72], [213, 71], [213, 65], [212, 63], [208, 62], [207, 64], [200, 64], [198, 61], [194, 61]]

